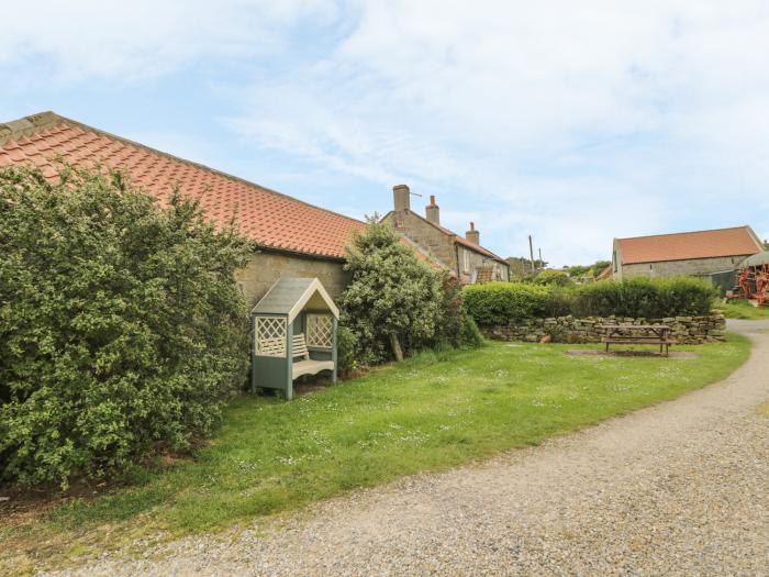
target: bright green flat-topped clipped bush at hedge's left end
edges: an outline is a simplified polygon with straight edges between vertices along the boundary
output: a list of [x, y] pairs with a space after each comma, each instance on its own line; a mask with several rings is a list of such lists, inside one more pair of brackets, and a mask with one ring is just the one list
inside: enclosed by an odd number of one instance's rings
[[482, 326], [543, 317], [549, 290], [523, 282], [489, 282], [465, 287], [465, 308]]

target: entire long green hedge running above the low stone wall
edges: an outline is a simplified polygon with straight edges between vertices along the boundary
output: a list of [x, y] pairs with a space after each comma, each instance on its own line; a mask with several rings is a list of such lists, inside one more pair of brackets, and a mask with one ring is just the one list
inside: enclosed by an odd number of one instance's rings
[[715, 288], [689, 277], [603, 280], [576, 288], [491, 282], [465, 289], [465, 307], [483, 326], [532, 318], [633, 317], [661, 319], [707, 314]]

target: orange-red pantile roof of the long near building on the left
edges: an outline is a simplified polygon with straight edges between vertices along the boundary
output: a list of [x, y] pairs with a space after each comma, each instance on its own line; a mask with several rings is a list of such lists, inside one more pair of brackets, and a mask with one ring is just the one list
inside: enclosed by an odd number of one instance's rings
[[219, 225], [233, 215], [241, 233], [267, 248], [341, 259], [365, 223], [212, 168], [101, 132], [53, 112], [0, 124], [0, 166], [29, 164], [54, 178], [55, 159], [124, 169], [159, 199], [176, 186]]

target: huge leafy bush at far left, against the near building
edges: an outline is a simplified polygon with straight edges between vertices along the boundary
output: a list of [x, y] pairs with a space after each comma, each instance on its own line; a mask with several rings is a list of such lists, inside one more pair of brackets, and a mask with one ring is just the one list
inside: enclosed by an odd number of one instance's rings
[[248, 252], [119, 173], [0, 169], [0, 479], [66, 485], [211, 433], [248, 358]]

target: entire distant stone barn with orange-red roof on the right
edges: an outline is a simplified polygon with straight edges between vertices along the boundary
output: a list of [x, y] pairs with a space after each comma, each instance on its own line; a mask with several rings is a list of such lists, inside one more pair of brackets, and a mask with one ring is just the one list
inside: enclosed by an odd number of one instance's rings
[[734, 270], [764, 251], [750, 226], [615, 238], [612, 275], [629, 277], [705, 276]]

